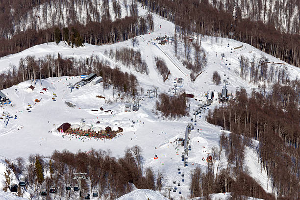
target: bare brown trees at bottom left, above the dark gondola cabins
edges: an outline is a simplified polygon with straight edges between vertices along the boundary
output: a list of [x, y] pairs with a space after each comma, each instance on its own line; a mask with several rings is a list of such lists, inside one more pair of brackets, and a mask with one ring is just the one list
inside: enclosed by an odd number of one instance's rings
[[[68, 150], [54, 150], [52, 155], [45, 157], [39, 154], [30, 155], [28, 162], [24, 158], [17, 158], [17, 162], [5, 160], [8, 166], [18, 176], [24, 175], [26, 187], [31, 187], [31, 197], [37, 197], [39, 189], [50, 189], [54, 186], [57, 190], [55, 197], [74, 196], [71, 191], [66, 191], [66, 184], [78, 184], [73, 178], [74, 173], [87, 173], [87, 180], [81, 181], [82, 194], [98, 191], [100, 198], [114, 200], [132, 191], [130, 183], [137, 188], [155, 190], [161, 188], [163, 183], [155, 184], [155, 172], [152, 168], [143, 168], [143, 150], [139, 146], [125, 149], [124, 156], [115, 158], [111, 152], [104, 150], [78, 150], [72, 153]], [[44, 177], [43, 173], [50, 176]], [[157, 172], [159, 179], [163, 174]], [[48, 194], [49, 195], [49, 194]], [[74, 197], [73, 197], [74, 198]]]

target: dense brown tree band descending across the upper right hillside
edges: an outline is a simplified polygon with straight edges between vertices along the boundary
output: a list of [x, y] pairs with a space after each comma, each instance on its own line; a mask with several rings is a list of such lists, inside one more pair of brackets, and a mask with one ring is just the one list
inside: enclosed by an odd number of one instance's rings
[[[228, 1], [228, 6], [232, 8], [231, 11], [224, 9], [223, 6], [221, 8], [213, 6], [206, 0], [138, 1], [150, 12], [174, 22], [175, 36], [177, 32], [183, 40], [188, 38], [192, 32], [196, 32], [196, 44], [200, 45], [201, 34], [228, 37], [229, 31], [231, 31], [234, 32], [234, 39], [248, 43], [287, 63], [300, 67], [300, 50], [298, 48], [300, 35], [299, 28], [297, 28], [299, 25], [295, 26], [296, 33], [284, 33], [280, 31], [280, 28], [275, 28], [272, 18], [268, 24], [264, 24], [259, 19], [254, 21], [251, 18], [243, 19], [239, 5], [237, 14], [232, 15], [233, 1]], [[221, 3], [223, 4], [223, 1], [220, 1]], [[233, 24], [235, 27], [231, 26]], [[185, 55], [188, 53], [186, 50], [187, 48], [185, 48]]]

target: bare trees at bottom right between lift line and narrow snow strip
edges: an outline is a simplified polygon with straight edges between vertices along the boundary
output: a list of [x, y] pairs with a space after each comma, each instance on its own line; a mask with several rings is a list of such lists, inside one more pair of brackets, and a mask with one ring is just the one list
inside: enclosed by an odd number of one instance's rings
[[[196, 167], [191, 171], [190, 198], [203, 196], [209, 199], [212, 193], [231, 192], [231, 200], [241, 200], [245, 196], [275, 200], [251, 177], [245, 164], [245, 148], [250, 146], [249, 138], [234, 133], [226, 136], [223, 132], [219, 148], [210, 150], [213, 159], [207, 163], [206, 170], [202, 172], [200, 167]], [[221, 162], [220, 157], [224, 155], [225, 162]]]

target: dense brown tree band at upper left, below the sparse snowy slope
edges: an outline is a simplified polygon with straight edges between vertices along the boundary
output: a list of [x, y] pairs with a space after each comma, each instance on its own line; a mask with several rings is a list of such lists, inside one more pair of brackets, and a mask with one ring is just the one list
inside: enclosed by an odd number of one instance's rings
[[[82, 43], [113, 44], [153, 31], [153, 16], [148, 13], [139, 17], [136, 3], [133, 4], [133, 7], [135, 8], [131, 11], [130, 16], [115, 21], [102, 18], [99, 22], [91, 21], [86, 24], [75, 21], [67, 24], [67, 26], [54, 24], [45, 29], [27, 28], [24, 31], [11, 34], [9, 37], [4, 37], [6, 33], [2, 31], [3, 40], [0, 44], [0, 56], [17, 53], [38, 44], [61, 40], [70, 41], [75, 47], [81, 46]], [[70, 33], [66, 33], [69, 30], [71, 30]], [[70, 43], [69, 46], [71, 46]]]

